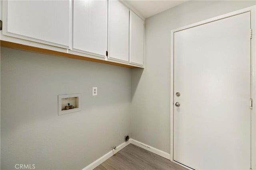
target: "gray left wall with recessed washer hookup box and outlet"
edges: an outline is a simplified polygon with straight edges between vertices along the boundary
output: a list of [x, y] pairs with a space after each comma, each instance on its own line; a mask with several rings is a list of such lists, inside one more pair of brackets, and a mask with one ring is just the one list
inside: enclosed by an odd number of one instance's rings
[[[58, 116], [73, 93], [82, 111]], [[1, 47], [1, 169], [84, 168], [124, 142], [130, 104], [130, 68]]]

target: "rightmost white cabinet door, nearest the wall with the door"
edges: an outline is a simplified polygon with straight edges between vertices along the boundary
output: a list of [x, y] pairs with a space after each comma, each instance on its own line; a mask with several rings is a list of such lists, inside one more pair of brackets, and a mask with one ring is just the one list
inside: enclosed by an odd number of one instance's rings
[[144, 21], [130, 10], [129, 62], [142, 66], [144, 63]]

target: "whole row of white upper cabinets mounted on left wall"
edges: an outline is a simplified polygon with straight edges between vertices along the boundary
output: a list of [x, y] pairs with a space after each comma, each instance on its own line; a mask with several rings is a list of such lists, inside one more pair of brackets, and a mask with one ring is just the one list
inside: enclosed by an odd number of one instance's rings
[[40, 53], [58, 51], [64, 57], [143, 68], [144, 21], [125, 3], [3, 0], [1, 45]]

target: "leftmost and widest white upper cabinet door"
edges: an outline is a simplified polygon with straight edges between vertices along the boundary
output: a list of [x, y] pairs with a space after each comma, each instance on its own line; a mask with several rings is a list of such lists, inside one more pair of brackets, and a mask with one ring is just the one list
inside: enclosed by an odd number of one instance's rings
[[71, 1], [4, 1], [3, 34], [57, 47], [69, 47]]

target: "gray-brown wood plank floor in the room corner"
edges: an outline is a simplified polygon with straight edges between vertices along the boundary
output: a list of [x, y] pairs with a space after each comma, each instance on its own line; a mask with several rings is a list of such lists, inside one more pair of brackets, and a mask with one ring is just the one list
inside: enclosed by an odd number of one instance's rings
[[188, 170], [148, 150], [129, 144], [94, 170]]

